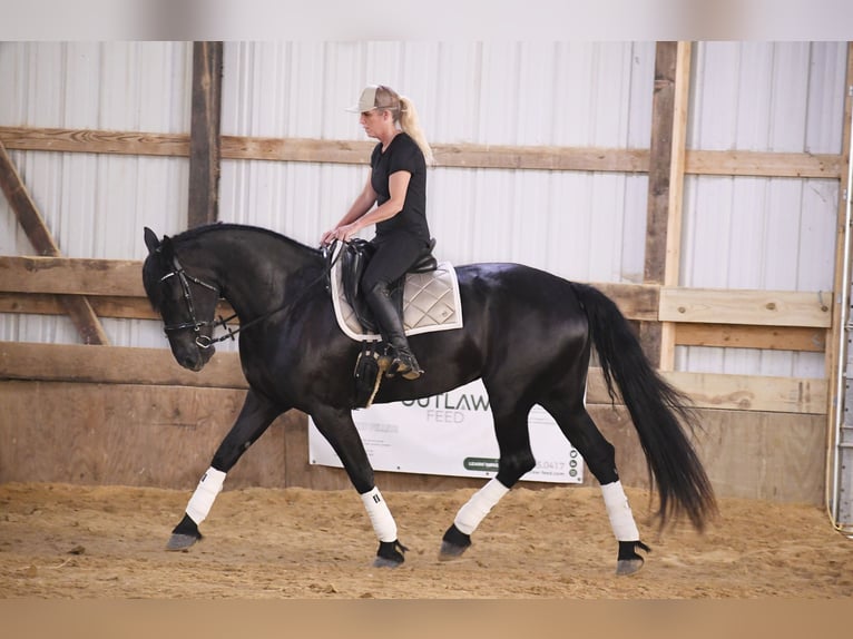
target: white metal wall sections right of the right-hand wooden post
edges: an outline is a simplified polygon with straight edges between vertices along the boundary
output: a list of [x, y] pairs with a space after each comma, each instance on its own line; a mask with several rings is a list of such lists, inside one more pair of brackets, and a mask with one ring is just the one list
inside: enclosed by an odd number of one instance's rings
[[[707, 42], [695, 51], [690, 148], [841, 151], [846, 43]], [[680, 284], [831, 292], [839, 197], [837, 180], [688, 176]], [[820, 353], [677, 351], [682, 370], [824, 375]]]

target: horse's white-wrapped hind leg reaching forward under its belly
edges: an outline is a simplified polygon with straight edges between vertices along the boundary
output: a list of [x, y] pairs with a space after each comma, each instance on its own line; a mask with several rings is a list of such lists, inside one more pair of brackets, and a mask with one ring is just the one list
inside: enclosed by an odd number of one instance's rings
[[439, 559], [450, 560], [461, 556], [471, 545], [471, 534], [486, 515], [506, 495], [518, 480], [536, 466], [530, 450], [527, 416], [530, 406], [514, 407], [501, 414], [492, 404], [494, 432], [500, 449], [498, 474], [477, 491], [457, 513], [453, 524], [441, 541]]

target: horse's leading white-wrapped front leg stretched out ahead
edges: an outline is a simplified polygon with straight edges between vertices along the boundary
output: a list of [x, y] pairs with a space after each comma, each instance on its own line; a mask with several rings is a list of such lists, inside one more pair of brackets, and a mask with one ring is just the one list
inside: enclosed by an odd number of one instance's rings
[[187, 503], [184, 519], [171, 531], [166, 544], [167, 550], [186, 550], [202, 539], [198, 524], [202, 523], [213, 508], [216, 497], [222, 491], [225, 475], [237, 463], [237, 460], [273, 423], [273, 420], [284, 410], [249, 390], [243, 409], [228, 434], [214, 454], [210, 468], [202, 475], [193, 497]]

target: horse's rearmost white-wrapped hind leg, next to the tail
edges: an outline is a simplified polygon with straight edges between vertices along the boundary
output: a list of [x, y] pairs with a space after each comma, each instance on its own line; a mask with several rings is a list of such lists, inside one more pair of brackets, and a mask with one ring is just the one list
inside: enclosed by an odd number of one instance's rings
[[582, 402], [575, 404], [562, 399], [541, 402], [557, 421], [560, 430], [581, 454], [589, 471], [601, 485], [601, 495], [610, 520], [614, 535], [619, 543], [616, 561], [617, 574], [631, 574], [643, 568], [644, 559], [637, 549], [649, 551], [639, 539], [628, 498], [616, 470], [616, 454], [612, 444], [605, 439], [587, 413]]

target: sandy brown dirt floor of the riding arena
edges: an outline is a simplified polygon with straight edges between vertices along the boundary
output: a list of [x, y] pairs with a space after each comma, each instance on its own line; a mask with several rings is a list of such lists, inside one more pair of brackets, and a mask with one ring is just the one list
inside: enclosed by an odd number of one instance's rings
[[354, 491], [228, 490], [186, 552], [164, 550], [192, 491], [0, 485], [0, 598], [37, 599], [754, 599], [853, 597], [853, 540], [821, 508], [720, 500], [704, 534], [663, 534], [629, 490], [645, 568], [616, 577], [598, 489], [513, 490], [453, 562], [441, 535], [472, 490], [388, 492], [398, 569]]

